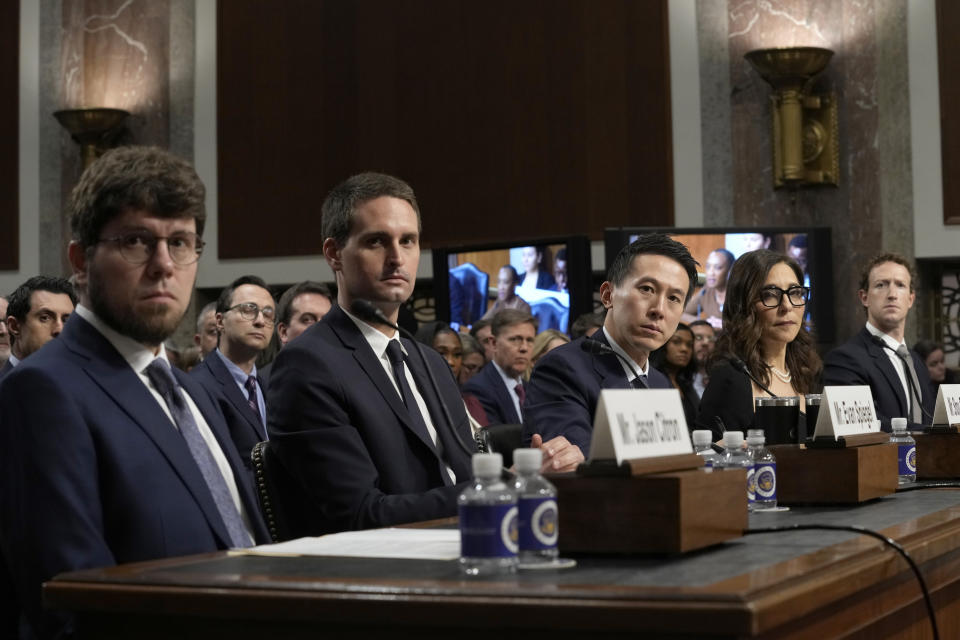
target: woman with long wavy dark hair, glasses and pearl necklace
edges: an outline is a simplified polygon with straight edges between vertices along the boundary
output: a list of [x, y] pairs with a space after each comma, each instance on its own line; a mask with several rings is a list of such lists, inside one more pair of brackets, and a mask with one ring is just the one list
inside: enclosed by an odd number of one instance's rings
[[805, 410], [803, 396], [818, 388], [823, 368], [803, 326], [809, 294], [800, 266], [782, 253], [760, 249], [734, 263], [723, 307], [723, 333], [700, 401], [699, 428], [719, 436], [723, 428], [754, 426], [753, 399], [769, 394], [733, 364], [738, 361], [777, 396], [799, 396], [800, 410]]

